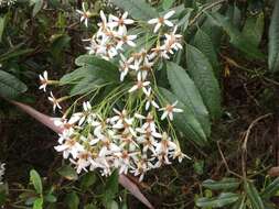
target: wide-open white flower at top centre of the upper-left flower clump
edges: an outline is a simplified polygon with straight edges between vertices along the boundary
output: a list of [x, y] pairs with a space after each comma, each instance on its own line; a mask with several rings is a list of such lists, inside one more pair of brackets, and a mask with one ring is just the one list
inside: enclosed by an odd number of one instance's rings
[[125, 12], [122, 16], [120, 18], [109, 14], [109, 20], [111, 22], [109, 22], [108, 25], [111, 28], [118, 26], [118, 33], [126, 34], [127, 33], [126, 25], [133, 24], [133, 20], [127, 19], [127, 18], [128, 18], [128, 12]]

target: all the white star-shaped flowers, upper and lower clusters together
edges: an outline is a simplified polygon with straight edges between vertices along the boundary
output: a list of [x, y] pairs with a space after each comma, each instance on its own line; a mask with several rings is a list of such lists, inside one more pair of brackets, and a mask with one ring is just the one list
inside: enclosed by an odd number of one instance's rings
[[[81, 22], [87, 26], [90, 12], [85, 4], [83, 11], [77, 12], [82, 14]], [[147, 25], [154, 25], [152, 31], [158, 41], [150, 48], [138, 48], [139, 34], [129, 30], [137, 22], [128, 18], [128, 12], [119, 16], [106, 16], [100, 11], [98, 31], [87, 40], [90, 45], [86, 50], [106, 61], [118, 61], [120, 81], [124, 82], [127, 76], [135, 80], [125, 96], [135, 95], [139, 102], [131, 107], [127, 101], [124, 108], [107, 111], [103, 109], [104, 106], [92, 107], [87, 101], [83, 103], [82, 111], [73, 112], [69, 117], [67, 112], [54, 120], [64, 130], [55, 150], [62, 152], [64, 158], [69, 158], [77, 173], [97, 169], [107, 176], [118, 169], [120, 174], [129, 172], [142, 180], [146, 172], [171, 164], [173, 158], [181, 162], [187, 157], [181, 152], [172, 128], [164, 129], [158, 120], [158, 116], [161, 116], [160, 119], [168, 119], [171, 127], [174, 113], [182, 112], [182, 109], [175, 107], [178, 101], [162, 107], [153, 80], [157, 63], [170, 59], [182, 48], [182, 35], [176, 33], [178, 26], [170, 20], [173, 14], [174, 11], [170, 11], [148, 21]], [[49, 80], [47, 73], [40, 76], [40, 89], [44, 91], [47, 85], [54, 82]], [[49, 100], [54, 110], [62, 109], [60, 101], [63, 98], [56, 99], [51, 92]], [[108, 105], [109, 100], [105, 98], [104, 103]]]

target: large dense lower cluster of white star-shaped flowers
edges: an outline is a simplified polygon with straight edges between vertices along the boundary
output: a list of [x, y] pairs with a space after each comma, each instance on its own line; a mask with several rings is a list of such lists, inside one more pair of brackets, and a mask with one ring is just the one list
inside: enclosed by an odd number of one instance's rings
[[186, 156], [178, 141], [160, 131], [151, 112], [131, 117], [127, 110], [114, 109], [111, 117], [104, 118], [84, 102], [82, 112], [68, 120], [55, 119], [54, 123], [64, 130], [55, 150], [76, 165], [77, 173], [99, 169], [107, 176], [117, 168], [142, 180], [147, 170]]

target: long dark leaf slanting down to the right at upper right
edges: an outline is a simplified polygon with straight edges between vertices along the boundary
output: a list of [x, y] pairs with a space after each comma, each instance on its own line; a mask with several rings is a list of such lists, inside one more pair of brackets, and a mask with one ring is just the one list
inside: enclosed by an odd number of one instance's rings
[[264, 59], [264, 54], [258, 50], [256, 45], [253, 44], [249, 37], [244, 36], [236, 26], [226, 16], [214, 13], [207, 14], [218, 26], [228, 34], [229, 42], [233, 46], [244, 53], [247, 58], [251, 59]]

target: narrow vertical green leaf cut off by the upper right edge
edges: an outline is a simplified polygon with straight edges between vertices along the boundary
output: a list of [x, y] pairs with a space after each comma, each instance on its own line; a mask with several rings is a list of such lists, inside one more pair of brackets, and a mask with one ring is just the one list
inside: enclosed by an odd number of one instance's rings
[[279, 70], [279, 1], [275, 1], [268, 40], [268, 67], [271, 72]]

